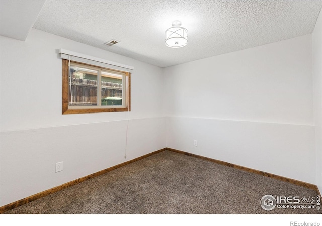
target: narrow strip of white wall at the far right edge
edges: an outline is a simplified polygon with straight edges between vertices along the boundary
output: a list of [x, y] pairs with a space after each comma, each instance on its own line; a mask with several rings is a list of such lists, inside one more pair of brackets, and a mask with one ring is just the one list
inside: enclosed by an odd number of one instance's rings
[[320, 14], [312, 35], [314, 123], [316, 145], [316, 184], [322, 192], [322, 15]]

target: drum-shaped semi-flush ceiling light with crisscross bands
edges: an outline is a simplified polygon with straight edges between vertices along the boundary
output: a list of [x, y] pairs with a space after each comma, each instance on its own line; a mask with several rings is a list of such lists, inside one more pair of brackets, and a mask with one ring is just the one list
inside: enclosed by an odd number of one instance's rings
[[184, 47], [188, 43], [188, 31], [181, 27], [181, 21], [172, 22], [172, 27], [166, 31], [166, 46], [171, 48]]

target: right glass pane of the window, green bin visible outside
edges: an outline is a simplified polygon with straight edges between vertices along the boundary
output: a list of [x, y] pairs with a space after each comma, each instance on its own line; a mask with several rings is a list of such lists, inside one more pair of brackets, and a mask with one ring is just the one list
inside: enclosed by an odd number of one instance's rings
[[117, 71], [102, 70], [102, 106], [122, 106], [122, 90], [124, 73]]

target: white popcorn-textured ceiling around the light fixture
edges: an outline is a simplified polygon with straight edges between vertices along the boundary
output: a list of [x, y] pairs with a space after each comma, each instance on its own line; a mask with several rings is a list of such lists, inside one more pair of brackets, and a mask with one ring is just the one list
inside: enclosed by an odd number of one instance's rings
[[[160, 67], [312, 33], [322, 0], [47, 0], [34, 28]], [[188, 45], [165, 45], [174, 20]], [[116, 39], [108, 47], [105, 42]]]

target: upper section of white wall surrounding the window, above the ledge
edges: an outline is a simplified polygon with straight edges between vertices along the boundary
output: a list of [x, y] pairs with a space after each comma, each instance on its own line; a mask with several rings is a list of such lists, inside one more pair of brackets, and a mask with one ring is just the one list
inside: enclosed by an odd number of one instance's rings
[[127, 112], [61, 115], [59, 48], [134, 66], [130, 118], [161, 116], [162, 68], [33, 29], [26, 42], [1, 37], [1, 131], [127, 119]]

